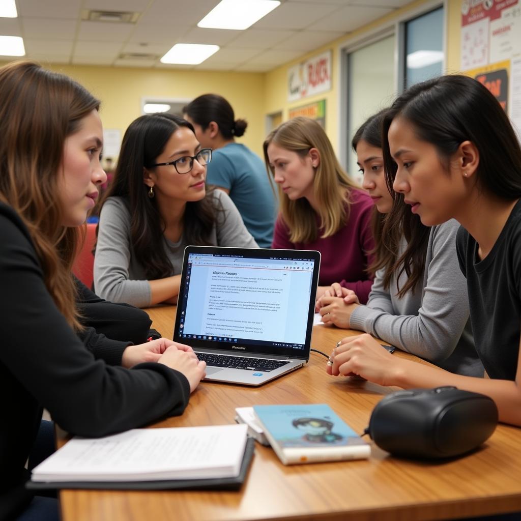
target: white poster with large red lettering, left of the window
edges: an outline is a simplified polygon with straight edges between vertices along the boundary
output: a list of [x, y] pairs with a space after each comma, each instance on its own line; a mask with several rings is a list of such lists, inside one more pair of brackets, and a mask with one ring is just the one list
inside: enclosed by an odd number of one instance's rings
[[288, 101], [331, 90], [331, 51], [309, 58], [288, 70]]

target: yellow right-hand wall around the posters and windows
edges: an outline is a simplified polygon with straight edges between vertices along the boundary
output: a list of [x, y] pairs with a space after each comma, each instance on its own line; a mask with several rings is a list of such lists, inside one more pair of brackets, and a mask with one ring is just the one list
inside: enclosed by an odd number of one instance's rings
[[[353, 31], [349, 34], [349, 39], [363, 36], [364, 33], [381, 28], [389, 27], [396, 17], [406, 14], [407, 11], [418, 8], [427, 3], [427, 0], [418, 0], [407, 6], [393, 11], [393, 13], [380, 18], [379, 20], [367, 24], [366, 26]], [[461, 24], [461, 0], [449, 0], [447, 8], [447, 47], [446, 65], [448, 71], [457, 70], [460, 63], [460, 24]], [[282, 67], [272, 70], [266, 74], [266, 93], [265, 93], [265, 112], [266, 114], [282, 111], [283, 119], [288, 119], [290, 108], [300, 105], [307, 105], [318, 100], [326, 100], [326, 132], [338, 153], [338, 119], [339, 119], [339, 45], [346, 42], [348, 38], [343, 36], [330, 44], [320, 47], [312, 53], [306, 54], [301, 58], [292, 61]], [[309, 57], [320, 54], [331, 49], [332, 51], [332, 89], [329, 92], [315, 96], [309, 96], [297, 102], [289, 103], [287, 100], [288, 69], [301, 63]]]

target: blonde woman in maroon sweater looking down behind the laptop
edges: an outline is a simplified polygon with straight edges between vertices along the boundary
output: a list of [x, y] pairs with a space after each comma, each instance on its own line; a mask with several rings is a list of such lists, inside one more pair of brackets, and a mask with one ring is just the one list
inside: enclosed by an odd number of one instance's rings
[[266, 138], [264, 157], [280, 192], [271, 247], [321, 253], [317, 299], [340, 281], [366, 303], [373, 201], [341, 168], [324, 129], [309, 118], [286, 121]]

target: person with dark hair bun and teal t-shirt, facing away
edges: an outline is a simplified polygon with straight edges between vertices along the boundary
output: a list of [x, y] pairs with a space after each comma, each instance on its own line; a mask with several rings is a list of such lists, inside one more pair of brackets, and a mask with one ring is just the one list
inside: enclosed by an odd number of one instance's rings
[[195, 98], [183, 113], [201, 145], [213, 150], [208, 183], [229, 194], [256, 243], [270, 247], [277, 217], [276, 194], [262, 159], [243, 144], [235, 143], [248, 123], [235, 119], [231, 105], [217, 94]]

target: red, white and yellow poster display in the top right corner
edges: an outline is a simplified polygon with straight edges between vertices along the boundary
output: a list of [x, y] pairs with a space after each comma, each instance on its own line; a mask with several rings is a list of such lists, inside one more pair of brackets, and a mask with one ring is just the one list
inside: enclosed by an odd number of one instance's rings
[[498, 98], [521, 140], [521, 0], [463, 0], [461, 69]]

